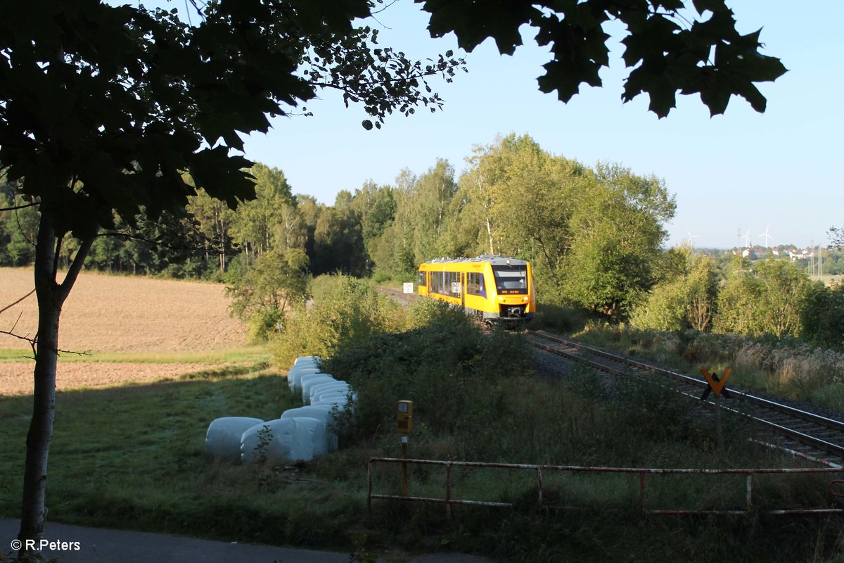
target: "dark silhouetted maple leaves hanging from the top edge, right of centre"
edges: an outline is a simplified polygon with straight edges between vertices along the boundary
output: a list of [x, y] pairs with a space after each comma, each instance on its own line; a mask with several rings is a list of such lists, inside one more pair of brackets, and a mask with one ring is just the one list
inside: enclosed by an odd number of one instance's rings
[[776, 57], [760, 53], [761, 30], [741, 35], [725, 0], [417, 0], [431, 14], [435, 37], [453, 32], [458, 45], [472, 51], [487, 38], [502, 54], [522, 45], [522, 26], [536, 30], [549, 48], [543, 92], [568, 101], [581, 84], [601, 86], [609, 67], [610, 22], [625, 30], [623, 59], [630, 73], [622, 100], [647, 93], [650, 110], [667, 116], [679, 92], [698, 94], [712, 115], [723, 113], [733, 95], [765, 111], [766, 98], [755, 83], [786, 72]]

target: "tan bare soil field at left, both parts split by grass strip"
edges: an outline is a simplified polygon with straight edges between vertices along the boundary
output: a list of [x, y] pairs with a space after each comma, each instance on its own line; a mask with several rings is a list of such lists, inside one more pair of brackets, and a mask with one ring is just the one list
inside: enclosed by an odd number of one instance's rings
[[[30, 268], [0, 268], [0, 309], [34, 288]], [[246, 327], [229, 316], [225, 286], [194, 281], [81, 273], [62, 309], [59, 347], [93, 351], [91, 362], [62, 362], [57, 389], [150, 382], [214, 367], [209, 363], [97, 362], [96, 352], [192, 352], [237, 349]], [[0, 313], [0, 330], [33, 336], [38, 320], [35, 294]], [[29, 350], [30, 344], [0, 334], [0, 349]], [[113, 354], [111, 355], [113, 357]], [[0, 395], [32, 392], [32, 361], [0, 362]]]

